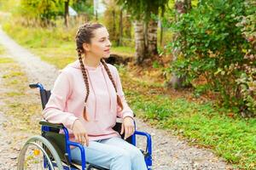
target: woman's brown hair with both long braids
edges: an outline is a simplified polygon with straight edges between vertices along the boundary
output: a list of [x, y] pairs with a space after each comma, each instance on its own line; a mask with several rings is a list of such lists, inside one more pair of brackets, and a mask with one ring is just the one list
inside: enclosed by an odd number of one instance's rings
[[[84, 84], [85, 84], [85, 88], [86, 88], [86, 94], [85, 94], [85, 99], [84, 99], [84, 111], [83, 111], [83, 116], [84, 116], [85, 121], [89, 121], [88, 113], [86, 111], [86, 102], [87, 102], [87, 99], [90, 94], [90, 88], [89, 88], [89, 81], [88, 81], [88, 75], [87, 75], [88, 71], [86, 70], [86, 68], [84, 66], [83, 58], [82, 58], [82, 54], [85, 54], [83, 44], [90, 43], [90, 39], [92, 37], [94, 37], [93, 31], [98, 28], [102, 28], [102, 27], [104, 27], [104, 26], [102, 26], [102, 24], [98, 24], [98, 23], [95, 23], [95, 24], [85, 23], [84, 25], [79, 27], [79, 30], [77, 31], [77, 35], [76, 35], [76, 44], [77, 44], [77, 52], [79, 54], [79, 63], [80, 63], [82, 75], [84, 78]], [[115, 89], [115, 92], [117, 93], [116, 84], [113, 81], [113, 77], [111, 75], [111, 72], [109, 71], [108, 65], [106, 64], [104, 59], [101, 59], [101, 62], [102, 62], [102, 65], [104, 66], [104, 69], [108, 73], [108, 77], [113, 84], [113, 88]], [[118, 94], [117, 94], [117, 104], [119, 105], [119, 107], [122, 111], [124, 109], [124, 107], [122, 105], [121, 99]]]

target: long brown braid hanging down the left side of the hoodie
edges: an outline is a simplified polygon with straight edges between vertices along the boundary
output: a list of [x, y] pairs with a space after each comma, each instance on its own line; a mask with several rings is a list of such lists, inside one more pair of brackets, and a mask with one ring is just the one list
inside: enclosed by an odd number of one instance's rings
[[86, 111], [86, 102], [90, 93], [90, 88], [89, 88], [89, 82], [88, 82], [88, 77], [87, 77], [87, 73], [84, 67], [84, 63], [82, 60], [82, 51], [78, 49], [78, 53], [79, 53], [79, 62], [80, 62], [80, 66], [81, 66], [81, 71], [84, 77], [84, 84], [85, 84], [85, 88], [86, 88], [86, 96], [84, 99], [84, 111], [83, 111], [83, 116], [84, 116], [84, 120], [85, 121], [89, 121], [88, 119], [88, 113]]

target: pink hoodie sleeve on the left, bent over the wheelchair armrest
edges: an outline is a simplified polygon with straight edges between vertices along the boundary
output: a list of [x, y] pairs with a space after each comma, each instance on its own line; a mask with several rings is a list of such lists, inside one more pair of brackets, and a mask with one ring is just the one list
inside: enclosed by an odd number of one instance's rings
[[73, 122], [78, 119], [73, 113], [65, 112], [67, 99], [71, 94], [70, 81], [67, 73], [61, 71], [51, 91], [49, 101], [44, 108], [44, 119], [52, 123], [62, 123], [65, 127], [72, 129]]

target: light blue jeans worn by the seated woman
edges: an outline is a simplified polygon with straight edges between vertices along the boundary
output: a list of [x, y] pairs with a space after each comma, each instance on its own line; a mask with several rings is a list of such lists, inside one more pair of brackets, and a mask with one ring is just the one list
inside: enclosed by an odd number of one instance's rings
[[[86, 161], [110, 170], [147, 170], [142, 152], [124, 139], [113, 137], [90, 141], [84, 147]], [[71, 150], [73, 160], [81, 161], [79, 148]]]

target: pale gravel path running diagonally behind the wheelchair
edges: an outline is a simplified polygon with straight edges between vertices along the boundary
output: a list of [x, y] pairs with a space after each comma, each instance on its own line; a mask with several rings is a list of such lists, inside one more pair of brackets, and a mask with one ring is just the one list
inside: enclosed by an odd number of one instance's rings
[[[52, 88], [58, 70], [31, 54], [25, 48], [20, 47], [0, 29], [0, 44], [7, 49], [7, 53], [15, 59], [26, 71], [31, 82], [42, 82], [45, 88]], [[3, 113], [0, 113], [0, 120]], [[0, 130], [1, 130], [0, 122]], [[137, 129], [151, 133], [153, 139], [153, 163], [154, 170], [174, 169], [231, 169], [231, 166], [212, 154], [211, 150], [199, 149], [189, 146], [186, 141], [177, 139], [160, 129], [148, 126], [145, 122], [137, 119]], [[8, 134], [1, 133], [0, 141]], [[139, 139], [144, 141], [143, 139]], [[0, 151], [8, 150], [8, 145], [0, 143]], [[143, 145], [143, 142], [138, 145]], [[7, 156], [5, 163], [9, 163]], [[0, 164], [1, 166], [1, 164]]]

